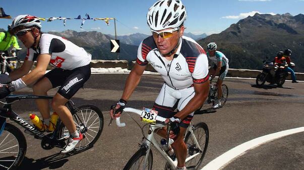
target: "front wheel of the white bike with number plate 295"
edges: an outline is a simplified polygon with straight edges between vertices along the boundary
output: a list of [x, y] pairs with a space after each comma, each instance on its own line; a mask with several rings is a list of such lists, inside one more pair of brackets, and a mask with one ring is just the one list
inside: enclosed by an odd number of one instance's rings
[[[126, 166], [124, 167], [124, 170], [143, 169], [142, 167], [143, 165], [141, 163], [144, 163], [146, 154], [147, 154], [147, 148], [146, 147], [140, 148], [137, 152], [134, 153], [134, 155], [127, 162]], [[152, 150], [150, 150], [148, 157], [148, 164], [146, 165], [145, 169], [151, 170], [152, 163], [153, 163], [153, 154], [152, 154]]]

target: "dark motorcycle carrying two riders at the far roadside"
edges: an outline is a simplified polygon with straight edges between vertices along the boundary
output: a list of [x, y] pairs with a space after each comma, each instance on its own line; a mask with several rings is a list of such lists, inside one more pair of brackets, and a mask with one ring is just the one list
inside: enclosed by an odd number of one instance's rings
[[257, 76], [256, 84], [262, 86], [265, 82], [270, 84], [277, 84], [282, 86], [285, 83], [285, 79], [288, 76], [286, 68], [288, 64], [286, 62], [278, 65], [274, 65], [272, 61], [263, 61], [263, 72]]

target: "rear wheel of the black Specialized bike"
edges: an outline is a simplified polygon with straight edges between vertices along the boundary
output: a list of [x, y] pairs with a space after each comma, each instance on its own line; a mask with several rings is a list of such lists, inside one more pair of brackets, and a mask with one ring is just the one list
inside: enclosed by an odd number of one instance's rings
[[[94, 105], [82, 105], [78, 109], [73, 115], [73, 120], [77, 130], [83, 132], [83, 139], [71, 153], [79, 153], [91, 148], [100, 137], [104, 125], [103, 114], [98, 107]], [[62, 138], [65, 134], [69, 133], [69, 130], [63, 123], [59, 129], [58, 138]]]

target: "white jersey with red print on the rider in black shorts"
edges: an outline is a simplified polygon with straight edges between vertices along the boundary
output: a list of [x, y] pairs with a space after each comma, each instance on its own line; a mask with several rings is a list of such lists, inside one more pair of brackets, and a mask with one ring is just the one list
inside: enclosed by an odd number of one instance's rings
[[29, 48], [25, 60], [35, 61], [40, 54], [50, 54], [49, 63], [57, 68], [73, 70], [90, 64], [92, 56], [69, 40], [42, 34], [37, 49]]

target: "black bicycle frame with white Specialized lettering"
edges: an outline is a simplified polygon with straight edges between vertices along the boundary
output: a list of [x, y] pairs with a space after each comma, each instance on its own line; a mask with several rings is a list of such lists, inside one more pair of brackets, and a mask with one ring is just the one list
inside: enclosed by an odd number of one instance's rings
[[[2, 133], [2, 130], [6, 123], [6, 118], [10, 118], [11, 120], [15, 121], [25, 129], [28, 129], [31, 131], [35, 136], [38, 138], [45, 140], [45, 141], [59, 141], [55, 138], [55, 135], [59, 131], [59, 126], [62, 123], [60, 119], [58, 119], [57, 126], [53, 132], [53, 134], [49, 137], [45, 135], [43, 132], [41, 132], [38, 128], [28, 123], [25, 119], [23, 119], [21, 116], [19, 116], [13, 109], [12, 109], [12, 103], [17, 100], [23, 100], [23, 99], [52, 99], [51, 96], [35, 96], [35, 95], [10, 95], [6, 98], [6, 102], [8, 104], [5, 104], [3, 108], [0, 108], [0, 127], [2, 127], [0, 130], [0, 135]], [[76, 106], [71, 103], [72, 101], [69, 101], [67, 103], [68, 108], [71, 110], [72, 115], [74, 115], [77, 112]]]

